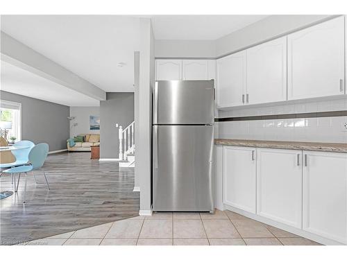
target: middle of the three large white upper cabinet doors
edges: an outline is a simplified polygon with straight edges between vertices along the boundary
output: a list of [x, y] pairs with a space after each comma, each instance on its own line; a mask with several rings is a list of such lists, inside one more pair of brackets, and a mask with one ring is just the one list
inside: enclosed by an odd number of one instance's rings
[[287, 100], [287, 37], [246, 50], [246, 103]]

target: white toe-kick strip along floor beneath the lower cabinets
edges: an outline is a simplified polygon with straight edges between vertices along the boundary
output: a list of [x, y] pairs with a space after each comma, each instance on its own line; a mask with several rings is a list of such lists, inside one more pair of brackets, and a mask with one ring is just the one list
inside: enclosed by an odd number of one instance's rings
[[224, 205], [224, 209], [228, 209], [230, 211], [234, 211], [237, 214], [240, 214], [242, 216], [246, 216], [247, 218], [252, 218], [252, 219], [257, 220], [259, 222], [265, 223], [267, 225], [271, 225], [273, 227], [277, 227], [277, 228], [283, 229], [283, 230], [285, 230], [287, 232], [296, 234], [298, 236], [303, 236], [306, 239], [310, 239], [310, 240], [316, 241], [318, 243], [322, 243], [323, 245], [343, 245], [342, 243], [339, 243], [337, 241], [333, 241], [331, 239], [326, 239], [325, 237], [322, 237], [322, 236], [319, 236], [319, 235], [316, 235], [316, 234], [312, 234], [312, 233], [307, 232], [307, 231], [305, 231], [303, 229], [298, 229], [296, 227], [291, 227], [289, 225], [286, 225], [286, 224], [283, 224], [283, 223], [279, 223], [279, 222], [277, 222], [275, 220], [271, 220], [269, 218], [265, 218], [263, 216], [259, 216], [259, 215], [254, 214], [254, 213], [251, 213], [251, 212], [248, 212], [248, 211], [244, 211], [242, 209], [237, 209], [235, 207], [232, 207], [232, 206], [229, 206], [229, 205], [226, 205], [226, 204]]

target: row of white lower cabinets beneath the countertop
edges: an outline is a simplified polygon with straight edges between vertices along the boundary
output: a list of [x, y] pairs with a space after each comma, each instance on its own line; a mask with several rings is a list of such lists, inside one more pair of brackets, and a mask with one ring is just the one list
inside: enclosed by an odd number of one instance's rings
[[347, 153], [223, 146], [218, 156], [223, 205], [347, 245]]

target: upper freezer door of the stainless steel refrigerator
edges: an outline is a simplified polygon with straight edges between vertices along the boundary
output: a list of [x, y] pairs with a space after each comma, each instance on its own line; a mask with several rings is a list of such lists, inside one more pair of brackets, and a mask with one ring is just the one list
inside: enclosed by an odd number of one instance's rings
[[157, 81], [153, 124], [214, 123], [214, 80]]

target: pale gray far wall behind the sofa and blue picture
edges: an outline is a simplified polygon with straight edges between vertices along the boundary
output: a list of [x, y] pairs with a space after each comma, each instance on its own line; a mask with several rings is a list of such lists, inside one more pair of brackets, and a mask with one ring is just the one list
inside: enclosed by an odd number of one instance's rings
[[90, 130], [90, 116], [100, 116], [100, 107], [70, 107], [70, 116], [75, 116], [75, 119], [70, 122], [70, 129], [73, 123], [78, 123], [70, 136], [79, 134], [99, 134], [100, 130]]

